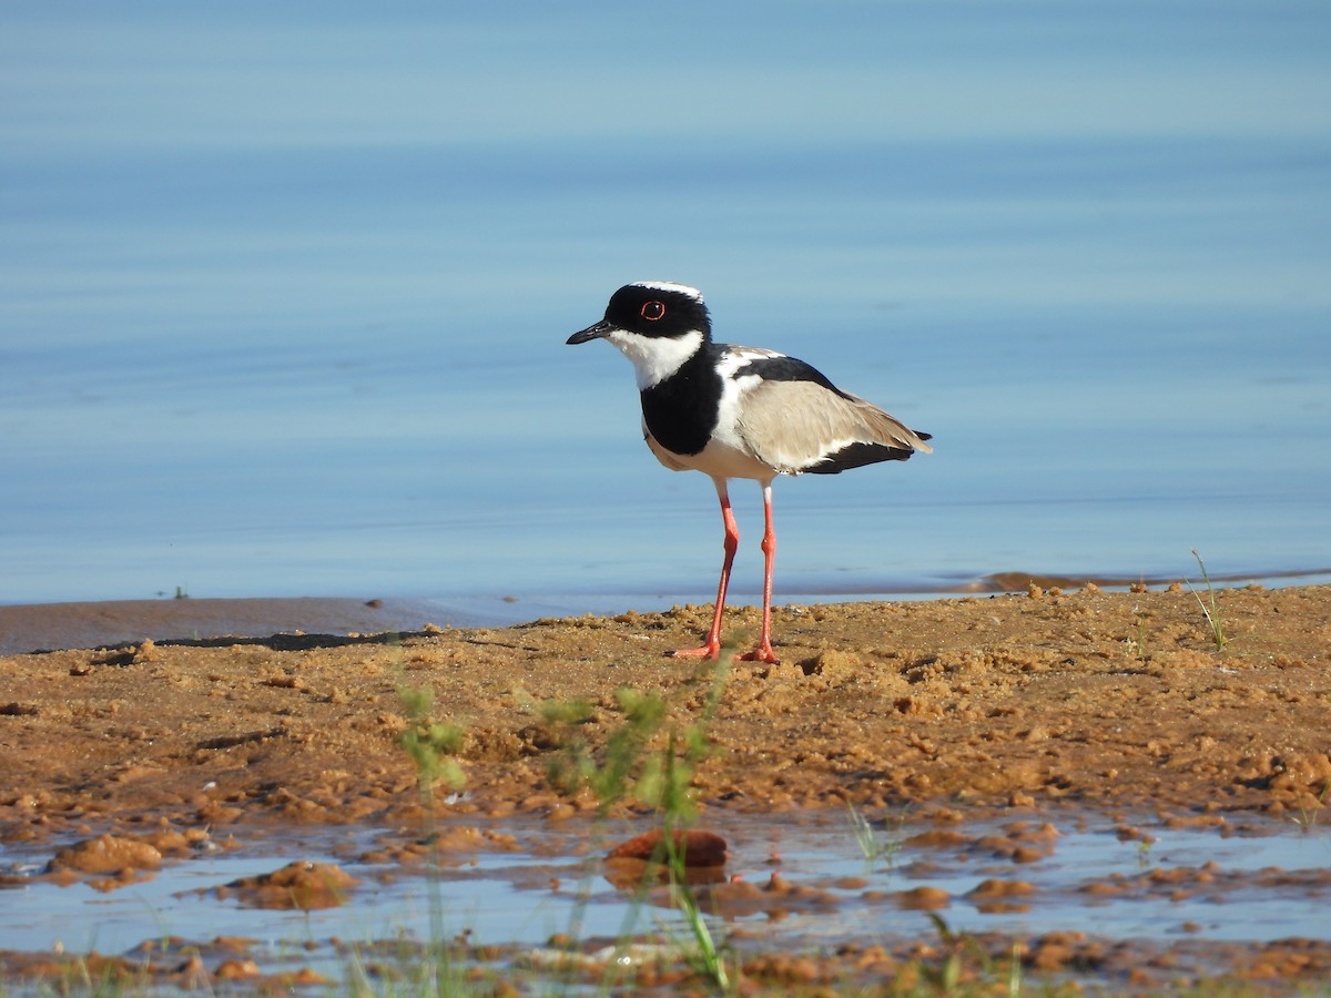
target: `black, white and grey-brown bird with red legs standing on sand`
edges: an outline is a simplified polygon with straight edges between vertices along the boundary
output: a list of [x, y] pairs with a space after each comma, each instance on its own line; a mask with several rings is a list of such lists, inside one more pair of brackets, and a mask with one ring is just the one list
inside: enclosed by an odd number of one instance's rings
[[712, 342], [703, 293], [673, 281], [635, 281], [615, 291], [604, 317], [568, 337], [568, 345], [604, 339], [634, 365], [643, 409], [643, 439], [672, 471], [711, 476], [724, 527], [721, 578], [712, 625], [697, 648], [676, 657], [717, 659], [721, 615], [739, 527], [729, 480], [763, 490], [763, 628], [741, 661], [777, 664], [772, 648], [772, 568], [776, 530], [772, 482], [777, 475], [835, 475], [882, 460], [930, 452], [926, 432], [908, 428], [877, 406], [836, 387], [813, 366], [775, 350]]

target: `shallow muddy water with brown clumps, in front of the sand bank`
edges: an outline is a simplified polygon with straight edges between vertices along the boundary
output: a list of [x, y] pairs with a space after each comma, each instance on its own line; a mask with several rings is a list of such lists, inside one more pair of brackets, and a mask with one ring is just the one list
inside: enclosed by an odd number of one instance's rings
[[[982, 821], [961, 826], [965, 841], [949, 846], [913, 844], [913, 836], [930, 830], [928, 825], [878, 826], [878, 844], [894, 848], [869, 860], [844, 814], [813, 820], [716, 814], [708, 828], [723, 832], [729, 844], [728, 877], [761, 885], [776, 870], [787, 885], [817, 897], [773, 894], [747, 908], [723, 905], [712, 915], [713, 930], [724, 937], [731, 929], [744, 929], [759, 947], [792, 953], [817, 946], [831, 950], [848, 941], [932, 938], [934, 929], [924, 912], [893, 901], [897, 892], [929, 886], [948, 893], [938, 912], [954, 931], [1032, 938], [1075, 926], [1106, 941], [1327, 938], [1331, 841], [1316, 828], [1300, 833], [1292, 825], [1254, 820], [1246, 833], [1226, 837], [1149, 822], [1153, 841], [1143, 848], [1121, 841], [1114, 821], [1105, 816], [1081, 814], [1073, 821], [1055, 816], [1051, 824], [1057, 834], [1047, 840], [1047, 854], [1033, 862], [1014, 864], [993, 854], [984, 842], [988, 837], [1004, 841], [1009, 825]], [[0, 906], [0, 938], [19, 951], [59, 946], [71, 953], [117, 954], [168, 935], [186, 943], [240, 937], [254, 941], [269, 973], [273, 962], [290, 961], [293, 969], [313, 962], [321, 973], [339, 977], [346, 958], [330, 939], [366, 947], [398, 938], [422, 942], [431, 938], [431, 913], [443, 919], [450, 938], [470, 930], [474, 942], [519, 947], [544, 946], [551, 935], [571, 931], [578, 918], [584, 939], [662, 926], [684, 934], [677, 912], [643, 906], [632, 892], [612, 888], [604, 877], [596, 857], [618, 841], [614, 832], [588, 837], [583, 826], [522, 821], [504, 830], [515, 836], [514, 850], [482, 848], [446, 856], [437, 900], [421, 868], [357, 860], [379, 841], [363, 829], [254, 840], [236, 852], [170, 862], [150, 878], [109, 893], [84, 884], [21, 886], [20, 874], [20, 886], [5, 892], [7, 904]], [[309, 912], [258, 908], [213, 893], [294, 860], [338, 864], [357, 885], [345, 904]], [[0, 861], [9, 869], [23, 865], [13, 849], [0, 852]], [[1211, 872], [1211, 882], [1197, 885], [1187, 876], [1202, 868]], [[1185, 880], [1169, 880], [1179, 873]], [[970, 896], [988, 880], [1020, 881], [1030, 892], [994, 909]], [[1085, 890], [1115, 882], [1127, 886], [1113, 896]]]

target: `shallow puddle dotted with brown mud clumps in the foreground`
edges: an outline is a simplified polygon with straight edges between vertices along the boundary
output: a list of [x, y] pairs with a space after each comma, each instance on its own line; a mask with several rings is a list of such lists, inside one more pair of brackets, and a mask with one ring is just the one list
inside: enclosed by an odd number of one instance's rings
[[[1331, 834], [1250, 817], [1206, 822], [1042, 813], [877, 818], [857, 828], [849, 812], [709, 813], [701, 824], [724, 836], [729, 858], [719, 882], [700, 886], [699, 896], [713, 933], [741, 953], [936, 941], [930, 914], [950, 933], [1012, 941], [1067, 931], [1158, 949], [1185, 939], [1331, 939]], [[244, 951], [254, 973], [303, 969], [345, 981], [367, 963], [382, 973], [394, 945], [406, 951], [439, 937], [500, 946], [502, 959], [522, 962], [560, 935], [683, 935], [663, 889], [639, 902], [612, 884], [602, 860], [646, 826], [446, 821], [438, 853], [406, 832], [241, 832], [250, 837], [213, 844], [109, 890], [96, 877], [64, 886], [43, 877], [68, 842], [7, 848], [0, 941], [11, 955], [170, 957], [198, 947], [208, 967], [226, 963], [230, 947]], [[272, 896], [241, 886], [293, 861], [345, 874], [330, 904], [274, 906]], [[433, 869], [438, 877], [427, 876]]]

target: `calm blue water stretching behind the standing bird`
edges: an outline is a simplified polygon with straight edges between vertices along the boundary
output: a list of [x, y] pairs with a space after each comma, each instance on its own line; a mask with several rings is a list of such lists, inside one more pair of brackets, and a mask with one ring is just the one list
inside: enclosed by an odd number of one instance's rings
[[777, 483], [777, 600], [1331, 568], [1328, 45], [1312, 0], [11, 0], [0, 603], [708, 599], [711, 484], [564, 346], [638, 278], [934, 434]]

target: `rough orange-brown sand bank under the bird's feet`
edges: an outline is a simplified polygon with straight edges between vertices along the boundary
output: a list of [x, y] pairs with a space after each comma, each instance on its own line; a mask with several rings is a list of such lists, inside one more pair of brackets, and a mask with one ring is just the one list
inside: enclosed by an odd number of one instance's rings
[[[362, 611], [373, 628], [382, 608]], [[25, 612], [52, 611], [4, 608], [0, 625]], [[463, 732], [458, 821], [567, 820], [595, 802], [551, 786], [564, 735], [534, 701], [586, 701], [578, 736], [598, 752], [623, 721], [616, 689], [660, 695], [687, 725], [717, 683], [715, 750], [693, 780], [704, 824], [845, 802], [952, 824], [1055, 805], [1315, 820], [1331, 786], [1331, 587], [1218, 589], [1214, 616], [1223, 647], [1178, 585], [787, 605], [781, 664], [719, 675], [663, 657], [696, 644], [708, 607], [474, 629], [397, 617], [389, 633], [281, 635], [272, 619], [265, 637], [184, 639], [145, 613], [132, 644], [0, 657], [0, 836], [410, 824], [402, 687], [431, 689], [430, 720]], [[728, 613], [741, 647], [756, 617]], [[1314, 949], [1290, 981], [1331, 965]]]

